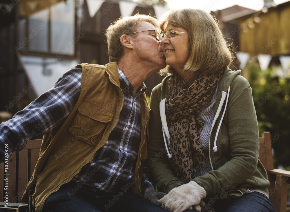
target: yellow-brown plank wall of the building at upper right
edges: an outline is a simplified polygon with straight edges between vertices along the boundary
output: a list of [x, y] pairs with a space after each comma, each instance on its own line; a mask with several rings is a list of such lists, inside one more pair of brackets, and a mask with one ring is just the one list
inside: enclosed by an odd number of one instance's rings
[[[290, 2], [269, 8], [259, 15], [261, 22], [255, 23], [248, 32], [240, 30], [239, 51], [252, 54], [290, 54]], [[242, 21], [241, 25], [247, 25]]]

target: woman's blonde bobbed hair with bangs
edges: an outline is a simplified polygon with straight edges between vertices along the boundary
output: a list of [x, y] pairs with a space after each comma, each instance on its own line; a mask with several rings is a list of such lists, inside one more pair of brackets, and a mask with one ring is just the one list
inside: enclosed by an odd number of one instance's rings
[[[216, 19], [199, 9], [172, 9], [160, 18], [164, 31], [167, 24], [183, 27], [188, 32], [189, 57], [184, 71], [210, 73], [225, 69], [233, 60], [229, 44], [225, 41]], [[160, 74], [175, 73], [171, 66], [160, 70]]]

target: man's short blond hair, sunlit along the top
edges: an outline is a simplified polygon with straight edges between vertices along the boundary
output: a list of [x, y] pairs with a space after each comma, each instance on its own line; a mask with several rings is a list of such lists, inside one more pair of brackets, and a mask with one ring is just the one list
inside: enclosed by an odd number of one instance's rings
[[[119, 61], [123, 56], [124, 49], [120, 42], [120, 37], [123, 34], [128, 35], [135, 32], [136, 27], [142, 22], [149, 22], [160, 30], [157, 19], [144, 14], [135, 14], [134, 16], [124, 18], [120, 17], [107, 28], [105, 35], [107, 37], [110, 62]], [[132, 34], [132, 36], [137, 36], [137, 34]]]

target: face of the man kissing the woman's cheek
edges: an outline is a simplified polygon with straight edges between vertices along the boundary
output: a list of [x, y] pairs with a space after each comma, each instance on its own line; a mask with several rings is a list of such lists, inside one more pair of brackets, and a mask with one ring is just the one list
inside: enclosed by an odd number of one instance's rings
[[[133, 40], [133, 49], [136, 53], [136, 62], [144, 64], [144, 68], [160, 70], [166, 66], [165, 57], [161, 43], [155, 38], [154, 31], [141, 32], [146, 30], [157, 30], [149, 22], [142, 22], [136, 27]], [[159, 32], [159, 30], [157, 30]]]

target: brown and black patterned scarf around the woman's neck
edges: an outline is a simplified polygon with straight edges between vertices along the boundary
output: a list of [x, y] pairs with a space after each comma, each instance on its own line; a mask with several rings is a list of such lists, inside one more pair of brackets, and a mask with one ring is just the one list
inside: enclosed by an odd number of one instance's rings
[[170, 146], [175, 172], [183, 182], [195, 178], [195, 171], [205, 164], [199, 138], [204, 122], [198, 113], [214, 92], [222, 73], [222, 70], [208, 75], [201, 73], [190, 87], [177, 73], [169, 78]]

